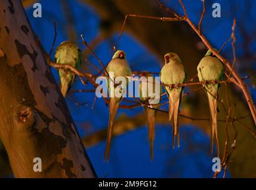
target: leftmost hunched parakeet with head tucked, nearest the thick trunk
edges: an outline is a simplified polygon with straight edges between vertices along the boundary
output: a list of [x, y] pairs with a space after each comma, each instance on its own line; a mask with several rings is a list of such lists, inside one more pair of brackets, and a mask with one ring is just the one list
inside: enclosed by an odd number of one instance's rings
[[[69, 64], [79, 69], [82, 63], [81, 50], [72, 42], [62, 42], [56, 49], [55, 62], [57, 64]], [[65, 97], [72, 87], [76, 75], [66, 69], [59, 69], [58, 74], [60, 75], [60, 90]]]

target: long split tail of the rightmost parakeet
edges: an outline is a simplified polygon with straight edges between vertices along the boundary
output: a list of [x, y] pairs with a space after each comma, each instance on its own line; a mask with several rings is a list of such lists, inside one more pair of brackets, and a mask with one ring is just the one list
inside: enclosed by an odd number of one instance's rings
[[212, 125], [211, 126], [211, 153], [213, 152], [214, 135], [215, 135], [216, 144], [217, 144], [217, 153], [218, 153], [218, 157], [220, 157], [220, 148], [218, 145], [218, 131], [217, 131], [217, 99], [212, 99], [211, 97], [209, 97], [208, 101], [209, 101], [209, 108], [211, 112], [211, 125]]

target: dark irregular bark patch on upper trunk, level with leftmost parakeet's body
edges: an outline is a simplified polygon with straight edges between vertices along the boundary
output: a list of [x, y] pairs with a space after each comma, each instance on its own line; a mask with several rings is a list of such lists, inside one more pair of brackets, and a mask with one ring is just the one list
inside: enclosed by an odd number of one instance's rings
[[14, 42], [16, 44], [17, 52], [20, 58], [22, 59], [24, 55], [28, 55], [33, 62], [33, 67], [31, 68], [32, 71], [35, 72], [38, 70], [38, 66], [36, 65], [36, 57], [38, 56], [38, 53], [35, 51], [34, 47], [30, 45], [33, 49], [33, 53], [30, 53], [27, 47], [20, 43], [17, 39], [14, 40]]

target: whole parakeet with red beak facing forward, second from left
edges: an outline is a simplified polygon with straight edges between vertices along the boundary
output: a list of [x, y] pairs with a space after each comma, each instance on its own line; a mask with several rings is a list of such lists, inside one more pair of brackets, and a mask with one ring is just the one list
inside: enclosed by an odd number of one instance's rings
[[[126, 76], [131, 76], [131, 68], [129, 67], [129, 64], [127, 62], [126, 54], [122, 50], [116, 51], [116, 53], [113, 55], [112, 60], [109, 62], [106, 68], [107, 72], [110, 74], [110, 72], [113, 72], [113, 78], [108, 78], [107, 84], [108, 84], [108, 89], [109, 93], [111, 88], [110, 83], [115, 80], [117, 77], [126, 77]], [[127, 78], [126, 78], [127, 79]], [[110, 81], [112, 80], [112, 81]], [[126, 84], [121, 84], [123, 89], [127, 89], [128, 81]], [[118, 86], [113, 87], [111, 90], [113, 91], [118, 88]], [[125, 92], [124, 92], [125, 93]], [[109, 161], [109, 155], [110, 155], [110, 144], [111, 144], [111, 137], [112, 137], [112, 131], [113, 131], [113, 126], [114, 126], [114, 121], [115, 121], [115, 116], [116, 112], [118, 110], [119, 103], [122, 100], [122, 96], [118, 97], [116, 94], [114, 94], [113, 97], [110, 96], [110, 104], [109, 104], [109, 128], [107, 129], [107, 143], [106, 143], [106, 150], [104, 153], [104, 160], [107, 158], [107, 162]]]

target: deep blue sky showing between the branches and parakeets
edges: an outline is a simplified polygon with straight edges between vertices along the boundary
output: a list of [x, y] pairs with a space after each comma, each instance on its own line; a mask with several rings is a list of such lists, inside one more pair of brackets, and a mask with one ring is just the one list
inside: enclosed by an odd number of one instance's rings
[[[60, 6], [60, 0], [43, 0], [39, 2], [42, 4], [42, 18], [34, 18], [32, 15], [32, 8], [28, 8], [26, 11], [33, 29], [39, 39], [41, 39], [45, 49], [49, 52], [54, 38], [54, 20], [57, 22], [58, 32], [55, 47], [62, 41], [68, 40], [66, 20]], [[164, 2], [166, 2], [166, 4], [172, 2], [172, 7], [177, 11], [181, 11], [178, 1]], [[210, 42], [219, 49], [230, 37], [233, 18], [238, 18], [239, 22], [239, 18], [242, 17], [245, 12], [246, 14], [250, 14], [250, 12], [254, 10], [246, 9], [246, 7], [243, 6], [243, 1], [232, 1], [233, 4], [236, 5], [235, 7], [238, 8], [235, 12], [230, 11], [231, 8], [228, 1], [214, 2], [219, 2], [221, 4], [221, 18], [213, 19], [211, 17], [212, 8], [207, 7], [208, 11], [206, 11], [205, 20], [202, 24], [202, 31], [206, 34], [206, 37], [208, 37]], [[255, 7], [255, 1], [252, 4]], [[98, 17], [97, 12], [95, 12], [92, 7], [80, 1], [70, 1], [70, 5], [73, 17], [75, 18], [76, 32], [78, 34], [76, 43], [81, 43], [80, 34], [84, 34], [85, 39], [90, 44], [100, 31], [100, 18]], [[187, 11], [192, 21], [198, 23], [202, 12], [202, 2], [194, 0], [193, 4], [190, 4], [190, 1], [185, 1], [185, 5], [187, 5]], [[120, 20], [123, 19], [124, 18], [120, 18]], [[246, 23], [245, 21], [246, 29], [253, 30], [251, 29], [251, 24], [252, 23]], [[117, 36], [118, 34], [115, 34], [112, 36], [112, 39], [104, 40], [100, 43], [97, 49], [95, 49], [95, 52], [104, 64], [107, 64], [112, 57], [111, 47]], [[242, 39], [238, 37], [238, 44], [240, 40]], [[85, 49], [83, 45], [78, 46], [81, 47], [82, 50]], [[119, 42], [119, 48], [125, 50], [127, 53], [132, 70], [143, 70], [146, 67], [148, 71], [160, 71], [161, 64], [159, 64], [159, 60], [156, 59], [154, 55], [150, 54], [146, 47], [137, 42], [137, 40], [127, 33], [124, 33], [122, 36], [121, 41]], [[253, 48], [255, 49], [255, 43]], [[227, 45], [226, 49], [230, 49], [230, 45]], [[238, 48], [238, 55], [242, 53], [243, 49]], [[230, 57], [232, 58], [232, 55], [230, 55]], [[99, 66], [98, 62], [92, 56], [88, 56], [88, 59]], [[138, 63], [136, 60], [143, 61]], [[57, 71], [55, 69], [52, 69], [52, 71], [56, 81], [59, 81]], [[96, 73], [96, 71], [94, 71], [94, 73]], [[85, 87], [78, 81], [74, 84], [72, 89], [84, 88]], [[102, 99], [97, 99], [94, 109], [91, 109], [94, 93], [75, 94], [74, 97], [79, 102], [88, 103], [88, 106], [77, 107], [72, 99], [66, 97], [67, 105], [69, 106], [69, 110], [72, 113], [73, 119], [75, 120], [76, 126], [82, 137], [85, 137], [88, 133], [107, 127], [109, 111]], [[119, 110], [116, 118], [121, 114], [132, 116], [141, 112], [143, 112], [141, 107], [134, 110]], [[87, 148], [87, 152], [99, 177], [211, 178], [213, 175], [211, 170], [212, 156], [209, 154], [210, 140], [208, 135], [201, 129], [192, 125], [181, 126], [180, 134], [180, 148], [172, 149], [171, 124], [156, 125], [155, 157], [153, 162], [150, 162], [149, 157], [149, 143], [147, 140], [146, 126], [138, 128], [135, 131], [127, 132], [119, 137], [115, 137], [112, 143], [109, 163], [103, 162], [105, 141]]]

